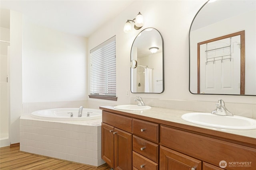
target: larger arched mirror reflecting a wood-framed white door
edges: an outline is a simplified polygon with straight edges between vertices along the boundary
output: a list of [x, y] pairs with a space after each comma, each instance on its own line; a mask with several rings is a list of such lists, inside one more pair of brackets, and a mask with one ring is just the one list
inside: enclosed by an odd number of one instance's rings
[[209, 0], [189, 33], [192, 94], [256, 95], [256, 1]]

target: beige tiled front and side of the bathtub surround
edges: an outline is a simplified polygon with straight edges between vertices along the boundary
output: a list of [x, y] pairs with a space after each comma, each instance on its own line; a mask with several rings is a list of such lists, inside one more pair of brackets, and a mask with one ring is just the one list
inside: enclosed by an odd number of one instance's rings
[[62, 160], [100, 166], [101, 119], [49, 121], [20, 117], [20, 150]]

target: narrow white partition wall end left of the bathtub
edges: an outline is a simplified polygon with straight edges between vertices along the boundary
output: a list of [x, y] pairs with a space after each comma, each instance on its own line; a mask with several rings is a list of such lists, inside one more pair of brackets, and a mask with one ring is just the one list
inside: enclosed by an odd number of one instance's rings
[[10, 10], [10, 130], [11, 143], [20, 140], [22, 114], [22, 14]]

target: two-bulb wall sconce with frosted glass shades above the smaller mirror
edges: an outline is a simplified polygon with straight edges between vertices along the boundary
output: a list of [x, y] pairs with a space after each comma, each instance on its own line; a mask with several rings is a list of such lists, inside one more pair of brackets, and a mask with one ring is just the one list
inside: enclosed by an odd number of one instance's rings
[[134, 18], [133, 20], [127, 20], [126, 23], [124, 24], [124, 32], [125, 33], [130, 33], [132, 31], [132, 24], [130, 21], [134, 22], [134, 29], [138, 30], [140, 29], [144, 22], [143, 22], [143, 16], [142, 14], [139, 14]]

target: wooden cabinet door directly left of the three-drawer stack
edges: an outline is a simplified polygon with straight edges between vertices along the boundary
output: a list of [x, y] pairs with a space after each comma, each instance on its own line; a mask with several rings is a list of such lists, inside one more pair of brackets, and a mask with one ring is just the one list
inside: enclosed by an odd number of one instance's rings
[[114, 129], [114, 168], [115, 170], [132, 169], [132, 134]]

